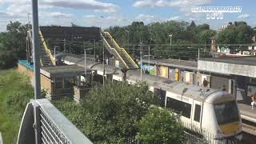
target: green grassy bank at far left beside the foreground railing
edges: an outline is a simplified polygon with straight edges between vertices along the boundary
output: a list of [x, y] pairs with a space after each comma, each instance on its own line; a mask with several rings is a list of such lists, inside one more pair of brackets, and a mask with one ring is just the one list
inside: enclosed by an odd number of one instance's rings
[[29, 78], [15, 69], [0, 71], [0, 131], [5, 144], [16, 143], [26, 103], [33, 97]]

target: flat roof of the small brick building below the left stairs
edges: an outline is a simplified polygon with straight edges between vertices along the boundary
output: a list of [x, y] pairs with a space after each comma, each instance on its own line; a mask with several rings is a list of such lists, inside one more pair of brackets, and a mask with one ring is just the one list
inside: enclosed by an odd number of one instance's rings
[[42, 66], [40, 72], [48, 78], [63, 78], [75, 77], [78, 74], [84, 74], [85, 70], [81, 66], [76, 65]]

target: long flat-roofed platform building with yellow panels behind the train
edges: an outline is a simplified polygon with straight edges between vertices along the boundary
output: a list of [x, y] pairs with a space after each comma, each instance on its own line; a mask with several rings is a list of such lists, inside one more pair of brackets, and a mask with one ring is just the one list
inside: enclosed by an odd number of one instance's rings
[[256, 92], [256, 58], [200, 58], [198, 62], [178, 59], [153, 59], [142, 61], [142, 69], [149, 74], [174, 81], [183, 81], [226, 90], [238, 102], [250, 104], [250, 95]]

